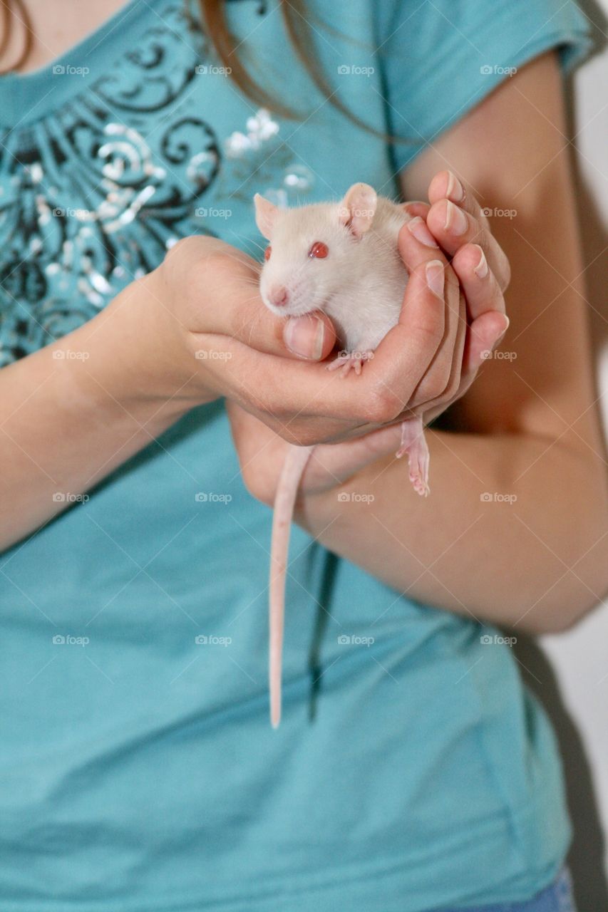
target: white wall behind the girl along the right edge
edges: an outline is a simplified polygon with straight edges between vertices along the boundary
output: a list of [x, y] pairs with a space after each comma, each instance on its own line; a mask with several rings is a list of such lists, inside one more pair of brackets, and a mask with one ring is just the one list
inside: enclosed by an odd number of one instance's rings
[[[608, 428], [608, 0], [579, 0], [602, 47], [575, 74], [571, 137], [577, 172], [587, 297]], [[593, 309], [594, 308], [594, 309]], [[575, 845], [571, 868], [579, 912], [608, 912], [608, 604], [561, 636], [524, 646], [534, 688], [550, 711], [563, 751]], [[555, 678], [556, 687], [547, 685]], [[529, 681], [534, 685], [534, 681]], [[549, 700], [548, 698], [549, 693]]]

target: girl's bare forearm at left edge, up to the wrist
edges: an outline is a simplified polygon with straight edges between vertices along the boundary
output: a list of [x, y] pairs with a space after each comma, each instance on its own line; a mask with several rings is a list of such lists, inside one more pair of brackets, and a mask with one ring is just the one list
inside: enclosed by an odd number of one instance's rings
[[187, 408], [183, 378], [146, 320], [149, 279], [0, 370], [0, 550], [68, 507]]

